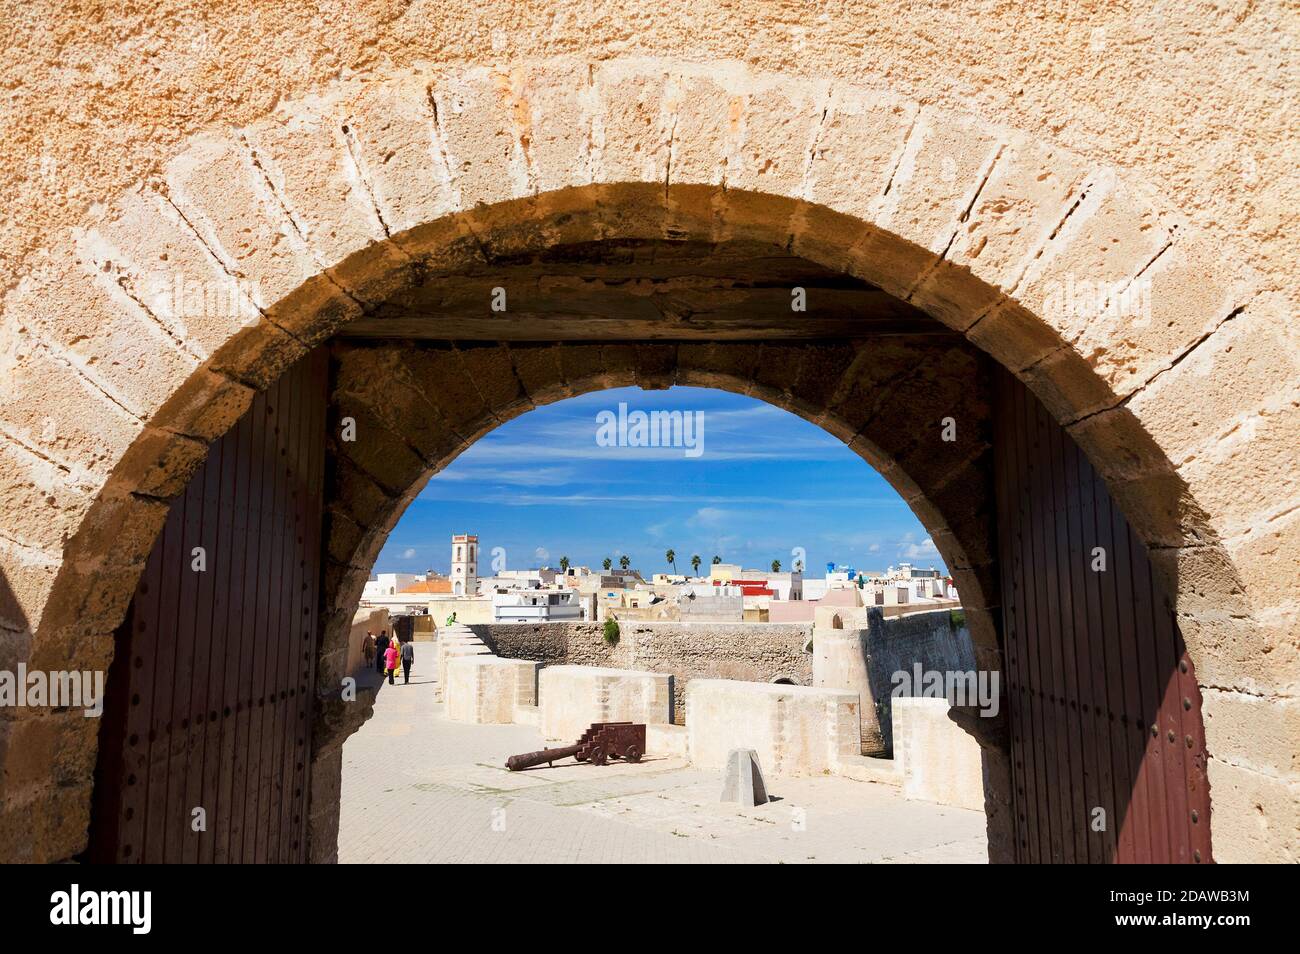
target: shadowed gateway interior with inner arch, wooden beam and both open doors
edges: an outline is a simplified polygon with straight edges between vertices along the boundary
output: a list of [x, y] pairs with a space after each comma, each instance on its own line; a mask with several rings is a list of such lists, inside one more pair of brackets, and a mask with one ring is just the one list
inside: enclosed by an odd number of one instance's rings
[[[417, 278], [391, 290], [390, 311], [351, 321], [260, 395], [172, 506], [168, 525], [176, 529], [155, 543], [153, 569], [117, 637], [120, 667], [131, 672], [124, 680], [118, 668], [110, 680], [112, 711], [126, 715], [103, 727], [98, 857], [328, 859], [338, 747], [365, 717], [364, 702], [339, 691], [339, 638], [378, 547], [413, 495], [477, 437], [530, 407], [608, 386], [690, 382], [753, 394], [815, 421], [876, 467], [932, 534], [963, 594], [980, 667], [1006, 673], [1011, 690], [1006, 732], [984, 732], [994, 857], [1178, 860], [1199, 851], [1208, 859], [1199, 695], [1186, 697], [1192, 704], [1182, 714], [1165, 706], [1166, 686], [1179, 677], [1195, 686], [1190, 669], [1178, 668], [1190, 662], [1175, 646], [1170, 600], [1149, 569], [1139, 571], [1110, 606], [1118, 612], [1127, 599], [1144, 615], [1128, 612], [1124, 638], [1105, 643], [1110, 656], [1100, 678], [1062, 681], [1067, 669], [1078, 675], [1100, 658], [1088, 637], [1104, 630], [1089, 628], [1087, 613], [1062, 608], [1088, 584], [1071, 563], [1083, 537], [1061, 515], [1091, 506], [1097, 526], [1104, 508], [1109, 533], [1098, 539], [1124, 550], [1124, 572], [1141, 564], [1141, 545], [1105, 487], [1087, 476], [1069, 435], [961, 335], [866, 282], [759, 242], [559, 244], [481, 273]], [[792, 287], [810, 303], [793, 312], [793, 324]], [[507, 305], [508, 320], [493, 317], [488, 303], [497, 290], [508, 302], [511, 289], [521, 290], [519, 312]], [[250, 429], [270, 443], [260, 448]], [[283, 465], [290, 446], [302, 447], [296, 471]], [[218, 477], [228, 467], [243, 481]], [[1091, 504], [1075, 499], [1084, 486]], [[169, 547], [190, 552], [220, 534], [213, 528], [221, 521], [208, 515], [238, 512], [238, 494], [251, 489], [280, 508], [228, 530], [237, 547], [259, 554], [251, 585], [265, 615], [252, 628], [274, 630], [269, 645], [285, 649], [286, 665], [265, 671], [256, 668], [264, 654], [230, 642], [243, 624], [213, 625], [202, 597], [186, 595], [195, 587], [191, 571], [166, 559]], [[256, 534], [289, 526], [291, 506], [309, 508], [294, 524], [307, 530], [273, 541], [264, 555]], [[1028, 543], [1018, 519], [1032, 528]], [[320, 591], [315, 603], [311, 586]], [[170, 595], [159, 598], [160, 590]], [[285, 603], [285, 593], [298, 602]], [[213, 612], [238, 602], [220, 584], [211, 594]], [[182, 612], [174, 641], [136, 651], [136, 641], [161, 632], [173, 603], [198, 607], [192, 625]], [[285, 642], [277, 620], [299, 610], [303, 630]], [[298, 639], [315, 652], [287, 665]], [[221, 660], [252, 660], [251, 678]], [[1130, 671], [1144, 680], [1112, 699], [1110, 677]], [[235, 686], [222, 706], [207, 702], [218, 672], [222, 685]], [[312, 682], [308, 706], [304, 686]], [[1096, 727], [1086, 732], [1087, 719], [1122, 740], [1106, 758], [1089, 745]], [[1170, 719], [1176, 730], [1165, 725]], [[299, 732], [308, 721], [311, 738]], [[1157, 725], [1188, 754], [1179, 747], [1167, 756], [1126, 736]], [[234, 763], [244, 764], [243, 794], [226, 803], [243, 815], [225, 818], [224, 853], [208, 847], [204, 855], [186, 834], [187, 819], [220, 802], [225, 760], [195, 754], [221, 751], [226, 740], [244, 759], [237, 754]], [[1175, 790], [1186, 798], [1166, 811]], [[1098, 808], [1106, 823], [1092, 828]]]

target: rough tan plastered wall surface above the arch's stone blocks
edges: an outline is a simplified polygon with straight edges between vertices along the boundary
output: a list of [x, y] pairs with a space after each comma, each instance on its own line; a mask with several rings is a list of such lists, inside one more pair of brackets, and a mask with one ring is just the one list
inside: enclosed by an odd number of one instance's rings
[[[589, 62], [654, 56], [868, 79], [939, 109], [1006, 122], [1140, 172], [1193, 226], [1222, 237], [1225, 259], [1271, 259], [1279, 278], [1291, 277], [1279, 287], [1300, 287], [1287, 239], [1295, 229], [1283, 225], [1295, 217], [1296, 170], [1284, 144], [1296, 139], [1296, 117], [1277, 103], [1295, 88], [1296, 66], [1284, 43], [1295, 19], [1282, 0], [1039, 9], [909, 0], [159, 0], [148, 12], [99, 10], [94, 29], [73, 29], [72, 17], [55, 0], [6, 16], [10, 56], [0, 69], [13, 95], [0, 183], [25, 214], [6, 222], [4, 274], [21, 276], [48, 231], [74, 227], [90, 203], [156, 173], [196, 129], [248, 127], [332, 78], [491, 64], [508, 79], [517, 64], [547, 57], [572, 58], [585, 77]], [[1249, 68], [1225, 69], [1238, 62]]]

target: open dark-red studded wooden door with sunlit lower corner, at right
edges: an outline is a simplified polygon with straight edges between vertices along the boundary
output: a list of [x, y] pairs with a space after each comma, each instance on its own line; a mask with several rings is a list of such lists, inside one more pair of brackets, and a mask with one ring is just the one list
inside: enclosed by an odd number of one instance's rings
[[[1209, 862], [1201, 698], [1173, 606], [1079, 447], [1023, 385], [1000, 378], [1018, 858]], [[1104, 571], [1093, 568], [1097, 554]]]

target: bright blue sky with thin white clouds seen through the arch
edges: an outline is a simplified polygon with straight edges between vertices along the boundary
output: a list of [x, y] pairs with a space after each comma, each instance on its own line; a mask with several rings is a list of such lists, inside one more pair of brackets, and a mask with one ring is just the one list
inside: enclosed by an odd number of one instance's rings
[[[598, 415], [701, 412], [702, 452], [599, 446]], [[649, 576], [677, 551], [708, 564], [783, 569], [802, 547], [807, 568], [835, 561], [884, 569], [910, 560], [942, 568], [930, 534], [871, 467], [816, 425], [725, 391], [636, 387], [538, 408], [481, 438], [437, 474], [394, 528], [376, 572], [446, 573], [452, 533], [477, 533], [480, 573], [491, 551], [506, 567], [615, 564]]]

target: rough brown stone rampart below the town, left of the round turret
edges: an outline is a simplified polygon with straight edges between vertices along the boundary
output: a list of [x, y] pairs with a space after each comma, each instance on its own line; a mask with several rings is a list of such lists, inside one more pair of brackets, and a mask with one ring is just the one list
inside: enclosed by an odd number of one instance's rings
[[693, 678], [812, 682], [812, 655], [803, 651], [810, 625], [621, 620], [614, 646], [604, 642], [599, 623], [495, 623], [471, 629], [493, 652], [510, 659], [671, 673], [677, 723], [685, 721]]

